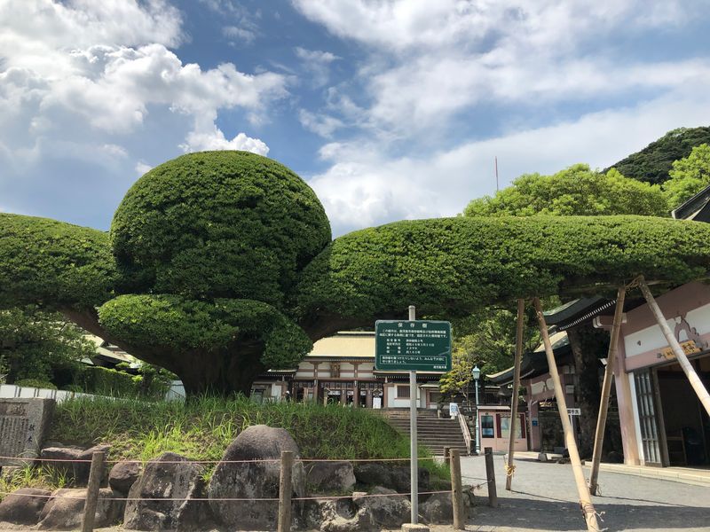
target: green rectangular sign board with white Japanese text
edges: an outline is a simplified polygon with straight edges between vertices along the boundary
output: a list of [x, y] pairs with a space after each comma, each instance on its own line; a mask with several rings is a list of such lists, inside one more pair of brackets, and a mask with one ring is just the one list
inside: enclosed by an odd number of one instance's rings
[[451, 324], [406, 319], [376, 321], [375, 370], [451, 371]]

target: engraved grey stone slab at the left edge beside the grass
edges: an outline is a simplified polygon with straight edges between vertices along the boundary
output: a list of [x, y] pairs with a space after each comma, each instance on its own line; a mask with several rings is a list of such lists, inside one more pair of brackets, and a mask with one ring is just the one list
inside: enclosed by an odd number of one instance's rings
[[[54, 399], [0, 399], [0, 457], [37, 458], [53, 410]], [[0, 465], [23, 461], [0, 458]]]

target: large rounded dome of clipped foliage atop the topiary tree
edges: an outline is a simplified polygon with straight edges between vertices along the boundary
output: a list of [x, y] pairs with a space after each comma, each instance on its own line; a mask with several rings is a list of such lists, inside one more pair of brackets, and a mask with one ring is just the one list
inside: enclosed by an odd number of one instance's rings
[[253, 299], [280, 306], [330, 241], [311, 188], [246, 152], [190, 153], [150, 170], [111, 225], [129, 292]]

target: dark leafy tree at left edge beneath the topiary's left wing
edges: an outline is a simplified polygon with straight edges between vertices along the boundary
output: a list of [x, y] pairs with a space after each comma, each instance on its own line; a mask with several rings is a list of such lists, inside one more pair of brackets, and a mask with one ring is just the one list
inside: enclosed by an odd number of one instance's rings
[[70, 382], [80, 361], [95, 354], [96, 346], [57, 312], [0, 310], [0, 374], [10, 384]]

